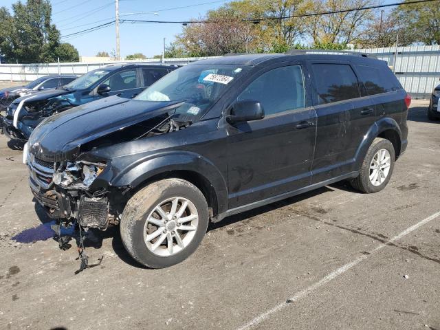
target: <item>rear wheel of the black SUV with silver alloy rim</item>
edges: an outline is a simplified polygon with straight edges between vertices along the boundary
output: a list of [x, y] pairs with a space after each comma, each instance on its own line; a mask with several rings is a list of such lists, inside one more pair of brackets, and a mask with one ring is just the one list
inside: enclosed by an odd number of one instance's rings
[[[383, 179], [383, 177], [380, 176], [380, 172], [379, 172], [377, 173], [378, 177], [375, 180], [373, 175], [374, 169], [371, 169], [370, 167], [376, 166], [373, 164], [373, 158], [377, 157], [376, 155], [379, 151], [382, 151], [382, 155], [383, 154], [386, 155], [386, 152], [384, 152], [383, 150], [388, 152], [389, 155], [389, 166], [386, 167], [388, 168], [388, 171], [386, 171], [384, 164], [384, 167], [382, 168], [382, 173], [386, 172], [385, 178]], [[388, 184], [388, 181], [390, 181], [391, 175], [393, 174], [394, 162], [395, 162], [395, 151], [393, 144], [389, 140], [376, 137], [375, 140], [373, 140], [371, 146], [369, 147], [369, 150], [366, 152], [364, 162], [362, 162], [358, 177], [355, 177], [350, 181], [351, 186], [356, 190], [360, 190], [367, 194], [372, 192], [378, 192], [384, 189]], [[370, 175], [373, 175], [374, 184], [370, 179]], [[380, 180], [382, 179], [383, 181], [380, 182]]]

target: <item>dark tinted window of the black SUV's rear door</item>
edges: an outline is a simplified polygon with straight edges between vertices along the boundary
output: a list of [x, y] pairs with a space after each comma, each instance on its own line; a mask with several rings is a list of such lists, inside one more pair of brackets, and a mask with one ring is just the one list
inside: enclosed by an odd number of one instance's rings
[[359, 98], [359, 83], [353, 69], [344, 64], [312, 65], [319, 104]]

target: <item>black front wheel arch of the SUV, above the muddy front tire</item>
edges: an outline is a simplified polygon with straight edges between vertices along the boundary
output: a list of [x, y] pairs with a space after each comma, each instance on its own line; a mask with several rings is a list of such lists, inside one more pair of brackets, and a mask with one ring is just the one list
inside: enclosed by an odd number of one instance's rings
[[[118, 166], [118, 160], [113, 159], [112, 163], [112, 166]], [[217, 195], [218, 211], [226, 210], [228, 190], [221, 171], [209, 159], [196, 153], [173, 151], [140, 158], [125, 168], [118, 168], [118, 174], [111, 179], [110, 184], [115, 187], [137, 188], [155, 175], [177, 170], [190, 171], [204, 177]]]

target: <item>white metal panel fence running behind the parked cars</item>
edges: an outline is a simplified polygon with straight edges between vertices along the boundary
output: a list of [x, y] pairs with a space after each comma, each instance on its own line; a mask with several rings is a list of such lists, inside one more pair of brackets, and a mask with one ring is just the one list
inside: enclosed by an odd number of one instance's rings
[[[354, 50], [371, 54], [393, 67], [397, 78], [413, 98], [426, 98], [440, 84], [440, 46], [411, 46]], [[165, 58], [165, 64], [184, 65], [206, 57]], [[396, 61], [395, 61], [396, 58]], [[124, 63], [140, 62], [125, 61]], [[160, 64], [160, 59], [143, 63]], [[46, 74], [85, 74], [93, 69], [117, 63], [0, 64], [0, 80], [31, 81]]]

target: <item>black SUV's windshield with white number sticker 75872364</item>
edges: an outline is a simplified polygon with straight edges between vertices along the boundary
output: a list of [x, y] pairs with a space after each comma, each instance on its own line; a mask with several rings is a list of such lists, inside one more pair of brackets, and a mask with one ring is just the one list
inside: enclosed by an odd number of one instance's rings
[[243, 65], [187, 65], [158, 80], [135, 100], [185, 101], [175, 117], [195, 122], [219, 100], [228, 84], [247, 70]]

